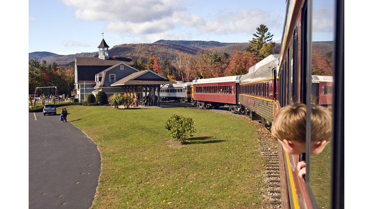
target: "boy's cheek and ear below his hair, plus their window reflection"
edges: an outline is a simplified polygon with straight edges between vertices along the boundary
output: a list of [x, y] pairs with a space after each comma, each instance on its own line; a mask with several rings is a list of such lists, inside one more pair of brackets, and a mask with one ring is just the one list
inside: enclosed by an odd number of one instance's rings
[[[305, 153], [305, 143], [302, 142], [297, 142], [297, 141], [292, 141], [288, 139], [284, 139], [283, 141], [278, 140], [281, 144], [282, 147], [286, 152], [289, 154], [293, 155], [300, 155], [302, 153]], [[318, 141], [318, 142], [312, 142], [311, 143], [311, 155], [316, 155], [322, 152], [322, 150], [325, 148], [325, 146], [329, 142], [326, 142], [325, 140], [323, 141]]]

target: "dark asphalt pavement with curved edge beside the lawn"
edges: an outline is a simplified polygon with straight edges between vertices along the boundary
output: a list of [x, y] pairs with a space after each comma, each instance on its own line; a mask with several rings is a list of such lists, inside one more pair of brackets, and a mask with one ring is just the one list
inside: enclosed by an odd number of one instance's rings
[[97, 146], [83, 132], [58, 114], [29, 113], [29, 209], [88, 209], [100, 170]]

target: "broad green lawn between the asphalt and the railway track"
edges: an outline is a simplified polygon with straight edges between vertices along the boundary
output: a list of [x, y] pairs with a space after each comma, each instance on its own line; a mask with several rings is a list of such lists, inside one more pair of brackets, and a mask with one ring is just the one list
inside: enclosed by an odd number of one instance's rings
[[[102, 156], [92, 209], [267, 207], [264, 159], [249, 119], [188, 108], [68, 106], [68, 113]], [[186, 145], [164, 128], [173, 114], [195, 121]]]

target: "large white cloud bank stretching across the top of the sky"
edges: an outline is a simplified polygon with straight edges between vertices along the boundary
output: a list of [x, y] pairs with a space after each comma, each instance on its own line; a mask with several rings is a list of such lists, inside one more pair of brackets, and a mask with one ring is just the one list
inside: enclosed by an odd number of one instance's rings
[[[187, 27], [200, 34], [251, 35], [256, 27], [265, 24], [282, 29], [283, 20], [260, 9], [217, 11], [213, 19], [187, 11], [183, 0], [62, 0], [75, 9], [81, 20], [108, 21], [105, 29], [128, 34], [159, 35]], [[147, 38], [145, 38], [147, 39]]]

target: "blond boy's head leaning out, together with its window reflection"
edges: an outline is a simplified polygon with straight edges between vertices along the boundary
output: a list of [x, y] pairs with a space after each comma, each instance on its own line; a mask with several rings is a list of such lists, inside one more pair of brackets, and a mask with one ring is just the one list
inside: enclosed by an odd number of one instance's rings
[[[305, 152], [305, 104], [290, 104], [281, 108], [272, 124], [272, 134], [289, 154]], [[319, 154], [330, 141], [331, 113], [326, 107], [311, 107], [311, 154]]]

